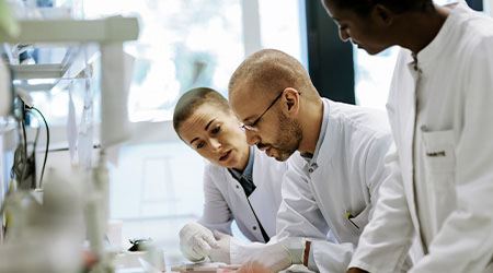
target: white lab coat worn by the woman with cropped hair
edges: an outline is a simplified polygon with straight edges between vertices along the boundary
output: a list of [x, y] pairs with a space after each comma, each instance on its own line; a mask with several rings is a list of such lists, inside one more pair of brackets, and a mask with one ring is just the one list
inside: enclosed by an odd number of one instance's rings
[[248, 199], [240, 182], [227, 168], [206, 164], [204, 213], [198, 222], [209, 229], [231, 234], [231, 222], [236, 219], [246, 238], [264, 242], [252, 209], [266, 234], [273, 237], [276, 234], [276, 214], [280, 204], [282, 177], [287, 164], [270, 158], [256, 147], [253, 151], [252, 178], [256, 188]]

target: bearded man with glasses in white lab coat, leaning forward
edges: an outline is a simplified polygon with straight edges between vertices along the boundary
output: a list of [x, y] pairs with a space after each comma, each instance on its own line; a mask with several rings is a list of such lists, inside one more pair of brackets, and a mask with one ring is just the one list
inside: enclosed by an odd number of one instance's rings
[[[249, 144], [288, 159], [277, 244], [239, 272], [303, 264], [342, 272], [371, 217], [392, 138], [383, 111], [321, 98], [302, 64], [274, 49], [244, 60], [229, 83]], [[299, 151], [299, 153], [295, 153]]]

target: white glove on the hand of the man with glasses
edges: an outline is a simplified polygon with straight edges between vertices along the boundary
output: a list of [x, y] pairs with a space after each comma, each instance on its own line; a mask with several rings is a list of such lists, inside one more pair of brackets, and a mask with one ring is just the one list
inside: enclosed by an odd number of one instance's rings
[[252, 259], [243, 263], [238, 273], [271, 273], [279, 272], [291, 264], [302, 264], [306, 240], [299, 237], [288, 237], [267, 245]]

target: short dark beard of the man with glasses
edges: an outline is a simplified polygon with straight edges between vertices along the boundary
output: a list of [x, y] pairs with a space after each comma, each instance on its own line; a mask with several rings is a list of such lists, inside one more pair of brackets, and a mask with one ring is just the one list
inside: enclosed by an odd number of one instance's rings
[[277, 119], [279, 134], [271, 146], [277, 152], [274, 157], [279, 162], [285, 162], [298, 150], [303, 133], [298, 121], [289, 119], [282, 111], [277, 112]]

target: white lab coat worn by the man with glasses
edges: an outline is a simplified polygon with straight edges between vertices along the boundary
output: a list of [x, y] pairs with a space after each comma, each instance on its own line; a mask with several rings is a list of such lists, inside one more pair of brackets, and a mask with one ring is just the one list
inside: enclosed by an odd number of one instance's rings
[[[383, 159], [392, 138], [383, 111], [325, 98], [323, 104], [325, 135], [311, 165], [299, 154], [288, 159], [277, 237], [307, 237], [312, 240], [310, 269], [345, 272], [379, 186], [389, 177]], [[340, 244], [330, 242], [329, 229]]]

